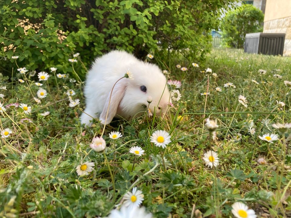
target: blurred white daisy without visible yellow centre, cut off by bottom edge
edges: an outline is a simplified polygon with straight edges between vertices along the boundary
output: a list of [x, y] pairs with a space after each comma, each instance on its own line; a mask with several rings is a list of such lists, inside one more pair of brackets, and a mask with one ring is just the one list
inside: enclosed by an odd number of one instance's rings
[[130, 208], [122, 206], [120, 210], [114, 209], [106, 218], [153, 218], [151, 213], [147, 213], [144, 207]]

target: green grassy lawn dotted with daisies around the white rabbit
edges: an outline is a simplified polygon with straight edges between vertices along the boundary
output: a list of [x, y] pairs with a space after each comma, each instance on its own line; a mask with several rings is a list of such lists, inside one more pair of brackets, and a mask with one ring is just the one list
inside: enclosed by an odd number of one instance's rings
[[[1, 103], [28, 104], [32, 112], [25, 114], [18, 107], [0, 114], [1, 130], [12, 130], [0, 140], [0, 216], [106, 217], [137, 187], [144, 195], [142, 206], [158, 218], [232, 217], [235, 202], [245, 203], [258, 217], [290, 217], [290, 130], [281, 134], [272, 124], [290, 122], [290, 88], [284, 81], [291, 80], [291, 58], [215, 49], [199, 68], [182, 58], [173, 57], [171, 63], [161, 68], [170, 71], [169, 79], [182, 81], [181, 99], [173, 102], [166, 119], [113, 121], [103, 135], [105, 153], [89, 147], [92, 138], [101, 135], [102, 125], [95, 122], [85, 130], [79, 123], [85, 107], [82, 83], [50, 72], [48, 81], [40, 81], [48, 95], [37, 104], [37, 76], [11, 69], [13, 84], [2, 76], [1, 86], [7, 90], [0, 90], [5, 95]], [[217, 77], [201, 72], [206, 68]], [[226, 83], [236, 88], [224, 88]], [[73, 99], [80, 99], [75, 107], [69, 107], [69, 89], [76, 92]], [[207, 100], [200, 94], [204, 92], [210, 93]], [[239, 103], [239, 95], [246, 97], [247, 108]], [[50, 114], [43, 116], [46, 111]], [[23, 118], [32, 123], [21, 123]], [[205, 128], [206, 118], [219, 125], [213, 137]], [[171, 136], [165, 149], [150, 142], [158, 129]], [[112, 140], [111, 131], [123, 136]], [[279, 140], [271, 144], [259, 138], [271, 133]], [[145, 154], [129, 153], [132, 146], [142, 147]], [[205, 165], [202, 158], [208, 150], [218, 154], [217, 167]], [[266, 164], [258, 163], [260, 157]], [[86, 161], [95, 166], [79, 177], [76, 167]]]

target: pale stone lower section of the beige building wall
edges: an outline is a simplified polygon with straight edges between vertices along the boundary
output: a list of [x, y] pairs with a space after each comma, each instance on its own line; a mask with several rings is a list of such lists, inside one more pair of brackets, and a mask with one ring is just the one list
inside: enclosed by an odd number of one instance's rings
[[[267, 1], [268, 3], [268, 1]], [[291, 56], [291, 16], [264, 21], [264, 33], [285, 33], [284, 56]]]

